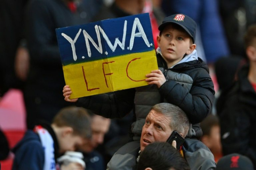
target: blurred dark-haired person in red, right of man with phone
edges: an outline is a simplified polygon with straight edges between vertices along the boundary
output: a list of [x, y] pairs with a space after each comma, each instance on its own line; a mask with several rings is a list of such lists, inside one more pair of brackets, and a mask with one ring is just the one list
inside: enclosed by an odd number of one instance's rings
[[201, 141], [210, 149], [211, 153], [213, 153], [215, 162], [218, 162], [222, 157], [221, 129], [218, 117], [209, 114], [205, 120], [201, 122], [201, 128], [203, 131]]

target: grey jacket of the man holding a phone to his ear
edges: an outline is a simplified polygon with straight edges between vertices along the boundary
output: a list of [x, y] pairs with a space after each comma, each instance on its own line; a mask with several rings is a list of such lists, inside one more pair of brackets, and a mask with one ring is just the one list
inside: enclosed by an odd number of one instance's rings
[[[139, 150], [139, 141], [129, 142], [122, 146], [107, 164], [107, 170], [135, 170]], [[186, 138], [182, 150], [191, 170], [214, 170], [216, 168], [213, 154], [199, 140]]]

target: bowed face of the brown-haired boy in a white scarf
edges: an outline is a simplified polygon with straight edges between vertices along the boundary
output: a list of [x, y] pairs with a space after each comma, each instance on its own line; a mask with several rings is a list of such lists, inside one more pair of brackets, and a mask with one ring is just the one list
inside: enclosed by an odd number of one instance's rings
[[61, 140], [59, 140], [59, 152], [75, 151], [77, 146], [82, 145], [84, 141], [85, 139], [81, 136], [73, 135], [72, 132], [63, 134]]

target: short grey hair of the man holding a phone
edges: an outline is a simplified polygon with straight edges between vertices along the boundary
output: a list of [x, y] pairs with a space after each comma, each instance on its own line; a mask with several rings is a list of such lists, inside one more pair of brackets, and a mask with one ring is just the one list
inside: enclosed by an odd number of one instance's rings
[[170, 103], [155, 104], [151, 110], [162, 113], [170, 118], [170, 127], [172, 130], [182, 133], [184, 136], [189, 131], [189, 118], [186, 113], [178, 106]]

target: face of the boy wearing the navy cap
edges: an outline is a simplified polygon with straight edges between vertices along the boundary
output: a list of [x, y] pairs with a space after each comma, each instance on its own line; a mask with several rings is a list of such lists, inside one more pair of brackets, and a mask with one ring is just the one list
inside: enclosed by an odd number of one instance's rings
[[157, 37], [157, 42], [168, 67], [175, 65], [182, 60], [184, 54], [190, 54], [195, 49], [189, 34], [175, 29], [172, 24], [163, 29], [162, 34]]

